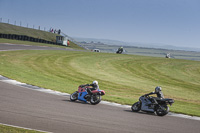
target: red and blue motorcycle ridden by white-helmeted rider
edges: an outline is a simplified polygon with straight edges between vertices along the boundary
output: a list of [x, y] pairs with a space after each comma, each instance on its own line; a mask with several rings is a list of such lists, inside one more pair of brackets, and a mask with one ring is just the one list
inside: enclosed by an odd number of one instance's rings
[[101, 96], [105, 95], [104, 90], [93, 90], [91, 91], [91, 94], [88, 94], [87, 89], [89, 86], [82, 86], [80, 85], [78, 87], [78, 91], [72, 93], [70, 95], [71, 101], [84, 101], [84, 102], [90, 102], [92, 105], [98, 104], [101, 101]]

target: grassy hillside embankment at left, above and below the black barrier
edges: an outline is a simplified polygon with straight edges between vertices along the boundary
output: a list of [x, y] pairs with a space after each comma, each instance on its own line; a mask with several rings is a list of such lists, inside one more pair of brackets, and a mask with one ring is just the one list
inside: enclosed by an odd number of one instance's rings
[[[56, 41], [56, 36], [59, 36], [58, 34], [42, 31], [42, 30], [36, 30], [31, 28], [25, 28], [15, 25], [10, 25], [6, 23], [0, 23], [0, 33], [3, 34], [16, 34], [16, 35], [27, 35], [34, 38], [40, 38], [47, 41]], [[30, 41], [21, 41], [21, 40], [12, 40], [12, 39], [0, 39], [0, 43], [12, 43], [12, 44], [26, 44], [26, 45], [37, 45], [37, 46], [49, 46], [49, 47], [62, 47], [62, 48], [73, 48], [73, 49], [81, 49], [83, 48], [77, 46], [73, 42], [70, 41], [70, 46], [60, 46], [60, 45], [52, 45], [52, 44], [45, 44], [45, 43], [36, 43], [36, 42], [30, 42]]]

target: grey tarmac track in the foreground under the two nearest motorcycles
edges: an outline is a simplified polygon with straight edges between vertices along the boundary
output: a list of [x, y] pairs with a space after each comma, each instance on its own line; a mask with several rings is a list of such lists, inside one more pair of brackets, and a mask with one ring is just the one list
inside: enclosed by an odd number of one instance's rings
[[198, 133], [200, 131], [200, 121], [197, 120], [133, 113], [131, 109], [104, 104], [71, 102], [69, 96], [47, 94], [2, 81], [0, 81], [0, 123], [55, 133]]

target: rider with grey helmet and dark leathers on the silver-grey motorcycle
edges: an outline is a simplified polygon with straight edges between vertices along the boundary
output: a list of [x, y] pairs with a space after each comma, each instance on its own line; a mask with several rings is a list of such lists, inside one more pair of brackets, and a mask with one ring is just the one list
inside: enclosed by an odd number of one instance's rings
[[160, 86], [157, 86], [156, 88], [155, 88], [155, 92], [150, 92], [150, 93], [148, 93], [148, 94], [145, 94], [145, 96], [149, 96], [149, 95], [152, 95], [152, 94], [156, 94], [157, 95], [157, 97], [152, 97], [151, 99], [151, 101], [153, 102], [153, 103], [157, 103], [157, 101], [156, 100], [160, 100], [160, 99], [163, 99], [164, 98], [164, 95], [163, 95], [163, 93], [162, 93], [162, 88], [160, 87]]

